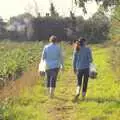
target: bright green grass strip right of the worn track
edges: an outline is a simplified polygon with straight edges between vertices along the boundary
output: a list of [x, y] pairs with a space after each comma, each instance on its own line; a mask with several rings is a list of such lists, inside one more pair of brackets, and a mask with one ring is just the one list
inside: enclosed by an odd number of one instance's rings
[[109, 65], [108, 50], [94, 51], [99, 75], [96, 80], [89, 81], [87, 100], [79, 102], [76, 120], [119, 120], [120, 89]]

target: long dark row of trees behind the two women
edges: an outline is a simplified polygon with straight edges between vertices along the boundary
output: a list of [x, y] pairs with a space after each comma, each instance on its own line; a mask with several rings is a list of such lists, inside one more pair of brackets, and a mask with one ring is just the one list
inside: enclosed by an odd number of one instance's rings
[[[68, 41], [73, 41], [80, 36], [87, 38], [92, 43], [107, 40], [110, 21], [104, 14], [98, 11], [88, 20], [84, 20], [83, 17], [75, 17], [72, 12], [70, 15], [68, 18], [36, 18], [33, 22], [34, 39], [45, 40], [54, 34], [59, 39]], [[70, 34], [68, 29], [71, 31]]]

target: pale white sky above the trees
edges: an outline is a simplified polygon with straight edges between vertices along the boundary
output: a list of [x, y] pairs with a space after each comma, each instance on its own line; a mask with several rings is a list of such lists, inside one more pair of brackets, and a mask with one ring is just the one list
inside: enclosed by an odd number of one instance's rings
[[[0, 0], [0, 16], [3, 19], [9, 19], [12, 16], [17, 16], [24, 12], [30, 12], [35, 15], [34, 0]], [[49, 12], [50, 2], [53, 2], [57, 12], [61, 16], [69, 16], [69, 11], [72, 9], [72, 0], [35, 0], [38, 9], [42, 16]], [[97, 11], [98, 6], [94, 2], [89, 2], [87, 5], [88, 14], [84, 17], [87, 19]], [[73, 5], [75, 15], [84, 15], [80, 8]]]

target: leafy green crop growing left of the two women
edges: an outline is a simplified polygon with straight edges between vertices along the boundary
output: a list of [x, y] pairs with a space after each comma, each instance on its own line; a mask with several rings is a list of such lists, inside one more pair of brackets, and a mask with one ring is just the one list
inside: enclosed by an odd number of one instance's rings
[[39, 60], [39, 43], [0, 43], [0, 79], [11, 80], [21, 76], [27, 67]]

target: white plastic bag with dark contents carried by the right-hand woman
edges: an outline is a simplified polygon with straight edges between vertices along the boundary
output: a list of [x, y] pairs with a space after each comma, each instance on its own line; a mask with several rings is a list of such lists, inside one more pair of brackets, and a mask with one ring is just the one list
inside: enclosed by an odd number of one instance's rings
[[95, 64], [91, 63], [90, 64], [90, 69], [89, 69], [89, 77], [91, 79], [95, 79], [97, 77], [97, 70]]

